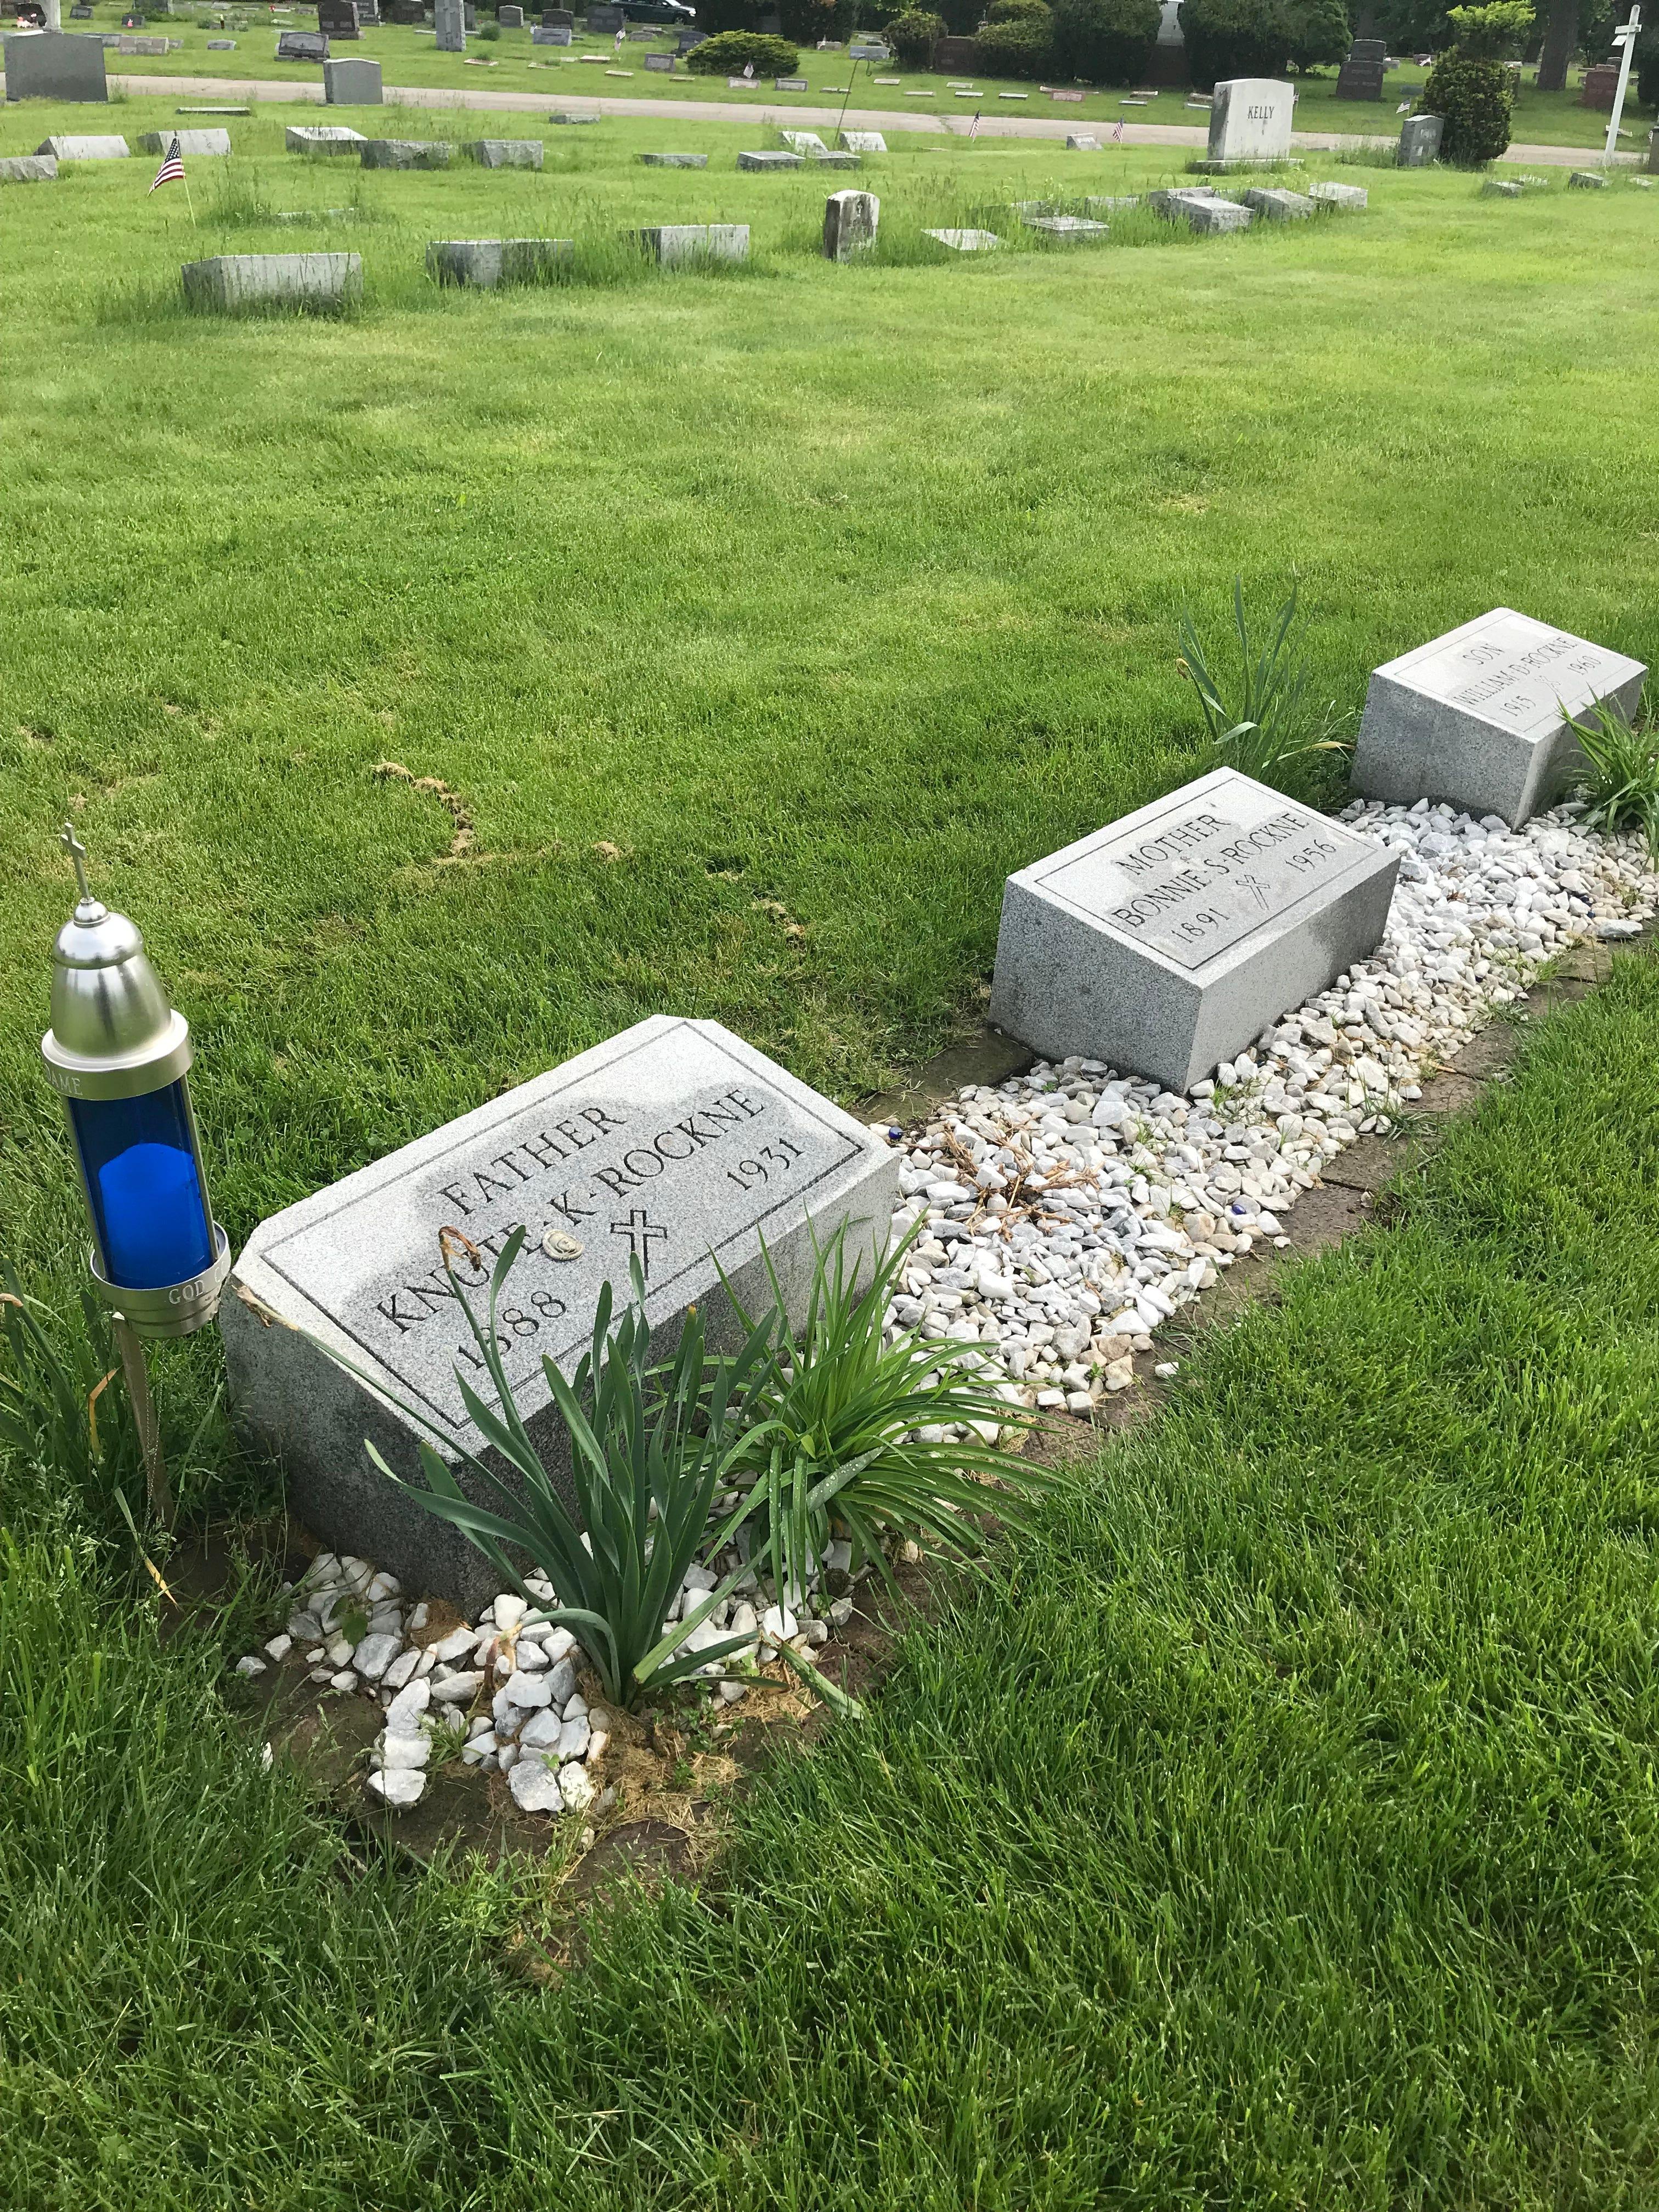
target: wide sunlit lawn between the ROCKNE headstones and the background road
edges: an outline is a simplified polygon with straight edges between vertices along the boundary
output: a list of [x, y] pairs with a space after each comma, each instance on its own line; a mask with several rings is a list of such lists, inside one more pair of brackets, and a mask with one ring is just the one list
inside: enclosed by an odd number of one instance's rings
[[[0, 111], [4, 150], [77, 119]], [[1343, 706], [1493, 604], [1659, 646], [1648, 195], [1378, 170], [1352, 219], [1199, 241], [1130, 215], [1102, 250], [960, 261], [918, 226], [1018, 237], [1015, 197], [1172, 170], [916, 139], [863, 173], [891, 259], [830, 268], [825, 179], [741, 175], [741, 126], [706, 173], [637, 166], [668, 124], [546, 131], [540, 177], [303, 161], [281, 111], [230, 128], [232, 164], [190, 164], [199, 228], [144, 157], [7, 188], [27, 1267], [75, 1230], [38, 1071], [69, 807], [197, 1026], [241, 1239], [648, 1011], [847, 1099], [914, 1066], [975, 1011], [1002, 876], [1190, 772], [1175, 626], [1234, 571], [1263, 599], [1303, 577]], [[754, 261], [617, 259], [661, 219], [750, 219]], [[535, 232], [591, 281], [422, 274], [427, 239]], [[186, 257], [292, 246], [363, 254], [358, 319], [184, 312]], [[460, 794], [462, 858], [383, 759]]]

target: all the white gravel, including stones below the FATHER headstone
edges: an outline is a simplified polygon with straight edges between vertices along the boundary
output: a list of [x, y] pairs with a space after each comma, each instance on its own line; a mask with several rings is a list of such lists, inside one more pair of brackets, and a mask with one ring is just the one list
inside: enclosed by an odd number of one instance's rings
[[[1062, 1060], [971, 1084], [916, 1137], [876, 1124], [905, 1150], [896, 1234], [927, 1221], [889, 1336], [982, 1345], [982, 1374], [1011, 1405], [1088, 1416], [1126, 1389], [1133, 1354], [1239, 1254], [1287, 1243], [1283, 1217], [1321, 1168], [1387, 1128], [1553, 953], [1637, 936], [1659, 900], [1646, 847], [1579, 830], [1575, 812], [1509, 830], [1427, 801], [1347, 807], [1349, 827], [1402, 852], [1383, 942], [1186, 1097]], [[1155, 1371], [1170, 1376], [1175, 1363]], [[845, 1593], [849, 1564], [849, 1546], [832, 1544], [790, 1606], [768, 1604], [776, 1593], [745, 1575], [690, 1648], [748, 1635], [719, 1668], [730, 1677], [752, 1674], [783, 1641], [827, 1644], [852, 1597], [830, 1597], [825, 1577]], [[692, 1566], [670, 1621], [737, 1566], [737, 1553]], [[553, 1604], [546, 1582], [526, 1588]], [[263, 1674], [299, 1648], [319, 1692], [376, 1699], [385, 1728], [369, 1787], [392, 1805], [418, 1803], [434, 1759], [458, 1756], [504, 1772], [524, 1812], [608, 1809], [595, 1770], [613, 1721], [577, 1688], [571, 1632], [513, 1593], [434, 1641], [427, 1621], [429, 1608], [407, 1608], [372, 1562], [323, 1553], [292, 1593], [285, 1632], [237, 1672]], [[712, 1681], [708, 1697], [737, 1703], [745, 1683]]]

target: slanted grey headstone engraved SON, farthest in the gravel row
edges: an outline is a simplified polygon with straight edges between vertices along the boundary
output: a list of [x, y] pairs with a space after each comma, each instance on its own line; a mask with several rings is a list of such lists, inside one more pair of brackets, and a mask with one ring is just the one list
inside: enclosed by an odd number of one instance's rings
[[1584, 768], [1566, 717], [1606, 703], [1626, 721], [1641, 661], [1495, 606], [1374, 670], [1354, 750], [1367, 799], [1447, 799], [1520, 827]]

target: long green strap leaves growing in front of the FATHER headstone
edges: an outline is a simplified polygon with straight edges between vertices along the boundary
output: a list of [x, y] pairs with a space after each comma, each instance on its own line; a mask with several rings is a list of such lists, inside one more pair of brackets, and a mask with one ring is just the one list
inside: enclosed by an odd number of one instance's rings
[[[750, 1575], [770, 1573], [779, 1599], [805, 1586], [832, 1535], [889, 1575], [887, 1546], [918, 1542], [925, 1551], [971, 1559], [982, 1551], [980, 1520], [1018, 1520], [1051, 1478], [995, 1447], [998, 1427], [1029, 1420], [971, 1371], [973, 1345], [922, 1345], [914, 1334], [885, 1338], [887, 1301], [907, 1243], [880, 1259], [869, 1279], [847, 1263], [845, 1234], [816, 1252], [796, 1334], [768, 1256], [774, 1305], [759, 1318], [728, 1296], [741, 1327], [732, 1354], [710, 1354], [703, 1316], [690, 1307], [675, 1356], [650, 1360], [646, 1285], [633, 1267], [633, 1296], [617, 1310], [611, 1283], [599, 1292], [593, 1340], [566, 1380], [551, 1358], [542, 1374], [571, 1438], [575, 1511], [560, 1495], [529, 1436], [507, 1376], [495, 1310], [502, 1285], [524, 1248], [518, 1228], [489, 1276], [480, 1321], [453, 1270], [462, 1250], [482, 1276], [482, 1254], [456, 1230], [440, 1252], [467, 1316], [498, 1405], [456, 1369], [456, 1383], [484, 1444], [511, 1471], [502, 1480], [473, 1449], [414, 1405], [400, 1411], [471, 1471], [467, 1495], [449, 1458], [420, 1440], [427, 1486], [405, 1484], [427, 1511], [460, 1528], [491, 1559], [507, 1588], [524, 1595], [513, 1555], [526, 1555], [551, 1582], [555, 1604], [531, 1615], [571, 1630], [591, 1659], [604, 1694], [635, 1708], [657, 1690], [750, 1650], [754, 1635], [688, 1648], [717, 1606]], [[473, 1285], [476, 1287], [476, 1285]], [[327, 1347], [325, 1347], [327, 1349]], [[341, 1354], [330, 1356], [369, 1380]], [[385, 1389], [376, 1380], [376, 1389]], [[947, 1442], [940, 1431], [969, 1425], [973, 1442]], [[922, 1440], [916, 1431], [933, 1431]], [[403, 1478], [374, 1444], [374, 1464]], [[991, 1495], [975, 1475], [1000, 1478]], [[737, 1493], [737, 1506], [730, 1504]], [[487, 1498], [489, 1504], [482, 1504]], [[714, 1520], [717, 1500], [726, 1500]], [[679, 1621], [664, 1615], [686, 1568], [717, 1555], [748, 1531], [748, 1559]], [[796, 1674], [838, 1712], [860, 1708], [792, 1646], [779, 1646]]]

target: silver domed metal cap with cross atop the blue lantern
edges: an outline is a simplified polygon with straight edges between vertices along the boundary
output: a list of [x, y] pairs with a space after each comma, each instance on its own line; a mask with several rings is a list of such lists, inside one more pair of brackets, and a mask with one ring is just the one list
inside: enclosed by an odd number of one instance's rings
[[51, 949], [51, 1029], [40, 1040], [51, 1084], [75, 1099], [161, 1091], [190, 1066], [190, 1024], [168, 1006], [137, 925], [86, 887], [86, 847], [69, 823], [80, 905]]

